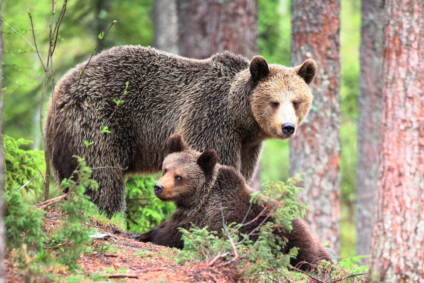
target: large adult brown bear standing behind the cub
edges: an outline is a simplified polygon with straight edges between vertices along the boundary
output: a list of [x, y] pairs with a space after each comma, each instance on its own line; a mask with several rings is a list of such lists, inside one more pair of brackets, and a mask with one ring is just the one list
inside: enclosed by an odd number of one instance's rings
[[[223, 52], [195, 60], [140, 46], [101, 52], [80, 79], [85, 66], [57, 84], [45, 127], [53, 123], [53, 175], [59, 182], [69, 178], [78, 165], [74, 155], [101, 167], [91, 174], [98, 191], [87, 193], [109, 215], [126, 207], [124, 174], [159, 171], [174, 133], [193, 149], [214, 149], [221, 164], [250, 182], [264, 140], [293, 136], [307, 115], [316, 70], [312, 59], [288, 68], [268, 65], [261, 56], [250, 62]], [[127, 81], [124, 102], [114, 112]], [[293, 133], [283, 132], [287, 123]], [[110, 133], [101, 133], [104, 126]], [[87, 150], [83, 140], [94, 143]]]

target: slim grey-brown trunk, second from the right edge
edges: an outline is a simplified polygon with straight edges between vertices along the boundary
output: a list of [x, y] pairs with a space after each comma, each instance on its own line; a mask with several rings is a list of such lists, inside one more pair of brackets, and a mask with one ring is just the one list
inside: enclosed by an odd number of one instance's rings
[[[369, 255], [374, 227], [382, 118], [384, 0], [362, 1], [358, 94], [357, 255]], [[363, 263], [368, 264], [364, 258]]]

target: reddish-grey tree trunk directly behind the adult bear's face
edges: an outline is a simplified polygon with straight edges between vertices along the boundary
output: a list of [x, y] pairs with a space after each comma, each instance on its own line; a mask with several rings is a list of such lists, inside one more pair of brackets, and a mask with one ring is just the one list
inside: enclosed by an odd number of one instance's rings
[[340, 0], [292, 1], [291, 63], [317, 62], [310, 114], [290, 139], [290, 176], [305, 172], [301, 202], [322, 242], [340, 255]]

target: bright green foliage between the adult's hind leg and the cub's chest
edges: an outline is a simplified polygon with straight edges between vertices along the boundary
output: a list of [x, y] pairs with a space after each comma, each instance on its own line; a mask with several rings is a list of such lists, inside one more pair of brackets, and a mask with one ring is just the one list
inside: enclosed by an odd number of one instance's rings
[[127, 178], [128, 231], [144, 233], [165, 222], [173, 213], [171, 202], [162, 202], [153, 193], [153, 177]]

